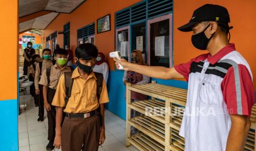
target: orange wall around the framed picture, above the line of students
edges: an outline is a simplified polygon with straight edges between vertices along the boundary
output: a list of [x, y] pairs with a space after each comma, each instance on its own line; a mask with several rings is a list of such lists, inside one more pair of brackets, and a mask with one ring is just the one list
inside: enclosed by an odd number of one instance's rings
[[[140, 0], [87, 0], [71, 14], [60, 14], [46, 29], [45, 38], [51, 33], [63, 30], [63, 25], [70, 21], [70, 48], [74, 50], [77, 47], [77, 30], [85, 25], [97, 22], [97, 19], [107, 14], [111, 15], [111, 31], [97, 34], [95, 26], [95, 44], [99, 51], [107, 54], [115, 49], [115, 12], [133, 5]], [[63, 48], [63, 34], [57, 35], [57, 43]], [[114, 62], [107, 59], [110, 69], [114, 69]]]

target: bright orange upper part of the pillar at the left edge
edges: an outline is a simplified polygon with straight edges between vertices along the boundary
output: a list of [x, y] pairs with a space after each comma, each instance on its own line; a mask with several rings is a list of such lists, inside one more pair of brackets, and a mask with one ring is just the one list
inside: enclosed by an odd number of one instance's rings
[[0, 9], [0, 20], [4, 21], [0, 24], [0, 101], [3, 101], [18, 98], [18, 1], [2, 1]]

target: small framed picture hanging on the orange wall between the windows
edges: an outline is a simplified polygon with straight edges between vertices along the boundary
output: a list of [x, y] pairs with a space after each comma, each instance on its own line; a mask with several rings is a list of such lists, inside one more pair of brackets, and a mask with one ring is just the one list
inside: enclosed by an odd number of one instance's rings
[[97, 33], [110, 31], [110, 14], [97, 19]]

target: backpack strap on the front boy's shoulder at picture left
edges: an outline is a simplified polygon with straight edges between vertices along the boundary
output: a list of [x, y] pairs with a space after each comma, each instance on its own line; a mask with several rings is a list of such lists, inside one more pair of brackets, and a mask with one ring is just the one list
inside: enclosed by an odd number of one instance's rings
[[64, 72], [64, 79], [65, 79], [65, 104], [67, 105], [68, 103], [68, 98], [71, 96], [71, 91], [74, 83], [74, 79], [72, 79], [72, 71], [70, 72]]

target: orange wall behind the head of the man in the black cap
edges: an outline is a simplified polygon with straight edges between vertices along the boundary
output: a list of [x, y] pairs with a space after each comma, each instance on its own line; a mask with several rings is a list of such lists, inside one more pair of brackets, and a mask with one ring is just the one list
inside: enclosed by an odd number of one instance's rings
[[230, 14], [231, 43], [235, 43], [237, 51], [248, 61], [253, 72], [254, 88], [256, 88], [256, 1], [255, 0], [175, 0], [174, 2], [174, 62], [178, 65], [189, 61], [192, 57], [208, 51], [200, 51], [191, 43], [192, 33], [180, 32], [179, 26], [186, 24], [192, 17], [194, 9], [206, 3], [219, 4], [227, 8]]

